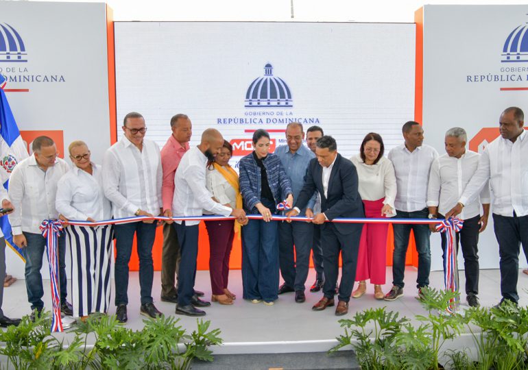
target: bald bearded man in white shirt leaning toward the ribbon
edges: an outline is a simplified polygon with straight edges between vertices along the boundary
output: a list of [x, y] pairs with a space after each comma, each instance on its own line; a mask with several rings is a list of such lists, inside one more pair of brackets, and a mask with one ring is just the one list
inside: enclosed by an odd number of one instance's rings
[[[174, 217], [202, 216], [203, 210], [222, 216], [237, 217], [245, 224], [248, 219], [241, 209], [232, 209], [211, 198], [205, 184], [206, 164], [213, 161], [224, 145], [224, 138], [215, 129], [207, 129], [197, 147], [187, 151], [180, 161], [174, 177], [172, 214]], [[180, 271], [178, 272], [178, 303], [176, 314], [204, 316], [205, 312], [196, 307], [211, 306], [194, 295], [196, 257], [198, 252], [198, 225], [200, 221], [175, 221], [172, 225], [180, 242]]]

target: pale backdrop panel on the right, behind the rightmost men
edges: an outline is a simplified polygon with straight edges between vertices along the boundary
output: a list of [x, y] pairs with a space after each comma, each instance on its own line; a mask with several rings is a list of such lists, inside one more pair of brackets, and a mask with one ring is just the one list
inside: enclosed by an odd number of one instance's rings
[[[527, 58], [503, 62], [502, 55], [509, 34], [527, 25], [527, 13], [528, 5], [424, 6], [423, 124], [426, 143], [439, 153], [445, 153], [444, 134], [451, 127], [464, 127], [472, 139], [485, 127], [499, 127], [499, 115], [509, 106], [528, 112], [527, 89], [516, 90], [528, 86]], [[528, 37], [525, 45], [528, 51]], [[482, 140], [474, 142], [477, 147]], [[442, 269], [437, 235], [431, 250], [432, 268]], [[479, 240], [479, 258], [481, 269], [499, 268], [491, 217]], [[526, 266], [522, 252], [519, 260]], [[459, 261], [462, 267], [461, 256]]]

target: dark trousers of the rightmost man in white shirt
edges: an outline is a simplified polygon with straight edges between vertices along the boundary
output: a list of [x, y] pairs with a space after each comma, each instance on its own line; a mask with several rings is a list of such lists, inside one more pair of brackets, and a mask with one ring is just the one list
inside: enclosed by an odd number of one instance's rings
[[505, 217], [493, 214], [493, 226], [501, 257], [501, 294], [503, 299], [518, 302], [519, 252], [522, 243], [528, 256], [528, 216], [517, 217], [514, 214], [513, 217]]

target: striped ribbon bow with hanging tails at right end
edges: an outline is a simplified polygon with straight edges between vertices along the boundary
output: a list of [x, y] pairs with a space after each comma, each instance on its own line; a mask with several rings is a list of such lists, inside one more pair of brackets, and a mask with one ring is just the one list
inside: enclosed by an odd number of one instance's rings
[[[461, 219], [442, 220], [436, 225], [436, 230], [446, 233], [446, 251], [444, 252], [444, 284], [446, 289], [457, 292], [458, 284], [458, 263], [457, 263], [457, 241], [456, 233], [462, 230], [464, 221]], [[455, 297], [450, 300], [448, 312], [453, 313], [459, 308], [459, 299]]]

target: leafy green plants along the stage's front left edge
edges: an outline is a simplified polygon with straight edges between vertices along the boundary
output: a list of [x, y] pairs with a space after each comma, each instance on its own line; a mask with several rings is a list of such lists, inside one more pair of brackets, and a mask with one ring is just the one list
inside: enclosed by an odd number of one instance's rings
[[[14, 369], [178, 369], [191, 367], [194, 358], [212, 361], [211, 345], [221, 344], [220, 330], [197, 321], [191, 334], [174, 317], [144, 320], [140, 331], [130, 330], [115, 316], [94, 314], [80, 321], [68, 345], [51, 335], [50, 316], [32, 322], [24, 317], [18, 327], [0, 331], [0, 355]], [[88, 349], [88, 338], [95, 344]]]

